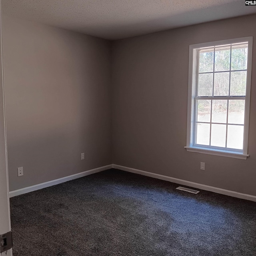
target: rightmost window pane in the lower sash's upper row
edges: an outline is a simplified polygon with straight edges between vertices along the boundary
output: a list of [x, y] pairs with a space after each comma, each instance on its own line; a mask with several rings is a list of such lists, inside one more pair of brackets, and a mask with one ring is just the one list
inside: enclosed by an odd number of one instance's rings
[[228, 103], [228, 123], [244, 124], [244, 100], [229, 100]]

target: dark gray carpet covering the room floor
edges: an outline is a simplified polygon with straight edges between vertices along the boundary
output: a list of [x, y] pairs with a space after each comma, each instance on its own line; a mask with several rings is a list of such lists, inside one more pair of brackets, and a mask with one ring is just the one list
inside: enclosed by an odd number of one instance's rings
[[14, 256], [256, 256], [256, 203], [107, 170], [10, 199]]

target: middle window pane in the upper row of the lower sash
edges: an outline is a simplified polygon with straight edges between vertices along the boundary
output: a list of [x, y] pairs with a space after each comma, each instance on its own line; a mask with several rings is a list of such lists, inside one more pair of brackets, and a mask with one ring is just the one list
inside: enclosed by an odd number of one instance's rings
[[213, 123], [227, 123], [227, 100], [213, 100], [212, 101], [212, 122]]

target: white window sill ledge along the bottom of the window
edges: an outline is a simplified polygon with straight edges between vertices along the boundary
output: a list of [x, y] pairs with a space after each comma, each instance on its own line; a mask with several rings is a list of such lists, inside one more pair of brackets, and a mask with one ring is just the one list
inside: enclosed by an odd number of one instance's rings
[[231, 152], [231, 151], [221, 151], [221, 150], [212, 150], [212, 149], [206, 149], [206, 148], [199, 148], [199, 147], [184, 147], [189, 152], [196, 152], [201, 154], [208, 154], [208, 155], [214, 155], [214, 156], [224, 156], [224, 157], [231, 157], [231, 158], [237, 158], [237, 159], [244, 159], [246, 160], [249, 155], [245, 155], [238, 152]]

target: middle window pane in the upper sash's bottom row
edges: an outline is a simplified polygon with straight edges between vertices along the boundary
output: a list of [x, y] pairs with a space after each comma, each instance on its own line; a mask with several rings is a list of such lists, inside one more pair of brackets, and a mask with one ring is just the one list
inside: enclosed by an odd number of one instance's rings
[[228, 96], [229, 72], [214, 74], [214, 96]]

